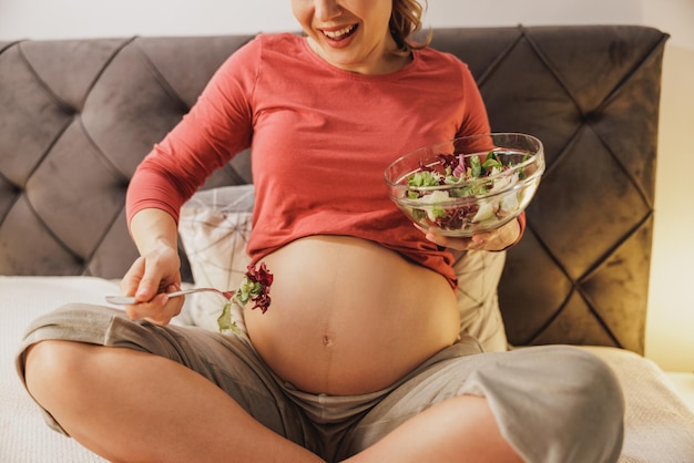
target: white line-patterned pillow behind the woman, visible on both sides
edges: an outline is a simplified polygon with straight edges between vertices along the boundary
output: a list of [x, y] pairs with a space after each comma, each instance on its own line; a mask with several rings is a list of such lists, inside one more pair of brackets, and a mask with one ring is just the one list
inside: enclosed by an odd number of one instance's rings
[[[239, 185], [198, 192], [183, 205], [178, 233], [195, 286], [238, 288], [251, 261], [246, 245], [254, 200], [253, 185]], [[460, 333], [477, 338], [484, 350], [506, 350], [506, 331], [497, 298], [506, 253], [457, 251], [455, 256]], [[216, 331], [225, 300], [208, 292], [193, 295], [193, 298], [188, 306], [193, 323]], [[235, 306], [232, 317], [245, 330], [243, 313]]]

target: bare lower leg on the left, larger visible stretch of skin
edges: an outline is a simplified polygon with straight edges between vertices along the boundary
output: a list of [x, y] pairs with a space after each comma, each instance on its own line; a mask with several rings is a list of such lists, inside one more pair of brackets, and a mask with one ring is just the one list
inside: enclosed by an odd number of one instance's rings
[[31, 394], [65, 431], [110, 461], [322, 461], [162, 357], [43, 341], [31, 348], [25, 377]]

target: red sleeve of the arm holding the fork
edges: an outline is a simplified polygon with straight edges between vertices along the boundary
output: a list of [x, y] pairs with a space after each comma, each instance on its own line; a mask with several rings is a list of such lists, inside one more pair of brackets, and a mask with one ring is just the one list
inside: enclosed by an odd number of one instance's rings
[[145, 156], [130, 182], [127, 224], [144, 208], [180, 209], [214, 171], [251, 145], [252, 95], [262, 56], [256, 38], [232, 54], [181, 122]]

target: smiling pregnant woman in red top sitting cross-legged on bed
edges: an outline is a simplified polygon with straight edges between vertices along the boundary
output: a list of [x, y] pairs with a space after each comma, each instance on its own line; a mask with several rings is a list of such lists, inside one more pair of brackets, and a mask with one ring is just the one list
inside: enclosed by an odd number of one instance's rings
[[[121, 285], [137, 302], [68, 305], [30, 327], [18, 366], [49, 424], [123, 462], [616, 461], [622, 395], [601, 361], [459, 335], [450, 249], [507, 249], [524, 217], [446, 238], [387, 196], [398, 156], [490, 132], [467, 65], [411, 40], [426, 4], [292, 7], [304, 34], [229, 56], [137, 168], [141, 257]], [[274, 276], [272, 303], [246, 308], [238, 333], [170, 326], [180, 208], [247, 147], [247, 250]]]

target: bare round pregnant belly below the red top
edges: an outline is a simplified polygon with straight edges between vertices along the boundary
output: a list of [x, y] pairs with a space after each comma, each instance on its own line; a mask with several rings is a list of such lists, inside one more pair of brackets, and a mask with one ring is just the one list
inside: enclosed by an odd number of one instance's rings
[[303, 238], [264, 261], [275, 276], [272, 306], [246, 309], [248, 335], [265, 362], [303, 391], [382, 389], [458, 335], [448, 281], [375, 243]]

